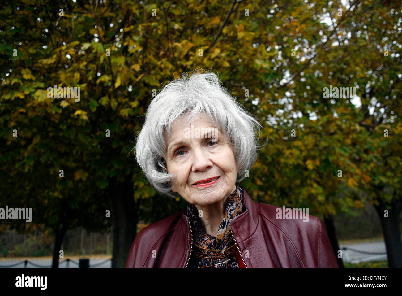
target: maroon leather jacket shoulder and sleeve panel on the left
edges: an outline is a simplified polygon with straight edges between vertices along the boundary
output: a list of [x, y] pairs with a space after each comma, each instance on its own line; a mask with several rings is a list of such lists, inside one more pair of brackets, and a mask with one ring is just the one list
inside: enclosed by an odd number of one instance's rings
[[153, 247], [180, 224], [181, 211], [140, 230], [131, 245], [125, 268], [142, 268]]

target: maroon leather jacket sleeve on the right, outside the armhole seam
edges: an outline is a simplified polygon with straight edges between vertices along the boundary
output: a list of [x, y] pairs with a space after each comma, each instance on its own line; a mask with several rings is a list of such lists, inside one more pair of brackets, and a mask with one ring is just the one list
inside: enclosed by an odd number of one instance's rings
[[[318, 218], [317, 218], [318, 219]], [[318, 268], [339, 268], [338, 262], [326, 235], [324, 224], [318, 219]]]

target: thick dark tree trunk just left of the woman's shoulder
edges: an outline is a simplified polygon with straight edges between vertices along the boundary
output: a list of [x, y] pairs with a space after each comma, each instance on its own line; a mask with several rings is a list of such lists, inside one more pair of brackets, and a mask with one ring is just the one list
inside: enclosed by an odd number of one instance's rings
[[127, 176], [123, 183], [117, 182], [116, 177], [113, 177], [109, 188], [113, 219], [112, 268], [124, 268], [137, 233], [138, 221], [131, 176]]

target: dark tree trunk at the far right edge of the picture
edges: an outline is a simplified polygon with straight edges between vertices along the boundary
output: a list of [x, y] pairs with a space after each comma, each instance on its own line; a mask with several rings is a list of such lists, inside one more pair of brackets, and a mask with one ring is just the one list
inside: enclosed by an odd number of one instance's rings
[[[380, 199], [379, 205], [374, 205], [381, 221], [387, 249], [388, 265], [390, 268], [402, 268], [402, 240], [399, 230], [399, 215], [402, 209], [402, 200], [393, 199], [391, 203], [384, 204]], [[388, 217], [384, 211], [388, 210]]]

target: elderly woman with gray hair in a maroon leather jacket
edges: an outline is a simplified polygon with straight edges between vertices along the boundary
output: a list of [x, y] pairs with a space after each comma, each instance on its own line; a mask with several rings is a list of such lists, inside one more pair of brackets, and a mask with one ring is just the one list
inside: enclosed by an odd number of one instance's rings
[[238, 184], [256, 160], [259, 128], [211, 72], [185, 74], [156, 95], [137, 162], [159, 193], [188, 203], [137, 234], [126, 268], [338, 267], [320, 219], [285, 216]]

